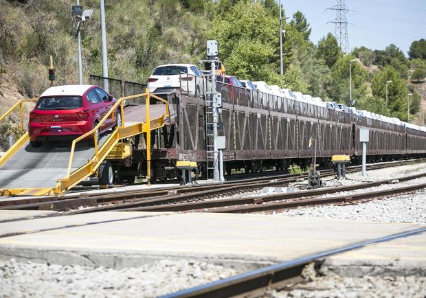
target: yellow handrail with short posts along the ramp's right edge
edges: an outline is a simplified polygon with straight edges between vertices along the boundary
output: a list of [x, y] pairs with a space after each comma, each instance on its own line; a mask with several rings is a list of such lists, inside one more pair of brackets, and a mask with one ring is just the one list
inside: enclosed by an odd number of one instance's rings
[[122, 123], [121, 123], [120, 128], [124, 128], [124, 100], [131, 100], [133, 98], [142, 98], [142, 97], [146, 98], [146, 106], [147, 106], [146, 120], [148, 122], [149, 122], [149, 99], [150, 99], [150, 97], [155, 98], [156, 100], [159, 100], [161, 102], [164, 102], [166, 104], [166, 117], [170, 117], [168, 101], [164, 100], [163, 98], [159, 98], [157, 95], [150, 94], [148, 92], [148, 89], [146, 89], [146, 92], [142, 93], [142, 94], [129, 95], [129, 96], [124, 96], [124, 97], [120, 98], [119, 100], [117, 100], [117, 102], [115, 102], [115, 104], [112, 106], [112, 108], [109, 110], [109, 112], [106, 113], [106, 115], [104, 115], [104, 117], [100, 120], [100, 122], [94, 128], [92, 128], [92, 130], [88, 131], [84, 135], [81, 135], [80, 137], [78, 137], [77, 139], [74, 139], [72, 141], [71, 152], [69, 154], [67, 176], [65, 177], [65, 179], [69, 179], [69, 176], [71, 175], [71, 166], [72, 166], [72, 163], [74, 161], [74, 152], [76, 150], [76, 143], [78, 141], [81, 141], [82, 139], [89, 137], [90, 135], [93, 135], [94, 143], [95, 143], [95, 157], [96, 157], [96, 161], [98, 161], [99, 160], [99, 149], [98, 149], [98, 135], [96, 134], [96, 131], [98, 131], [100, 126], [102, 126], [102, 124], [104, 124], [105, 120], [111, 115], [111, 113], [113, 113], [113, 111], [115, 111], [116, 108], [118, 108], [118, 106], [120, 106], [120, 114], [122, 116]]

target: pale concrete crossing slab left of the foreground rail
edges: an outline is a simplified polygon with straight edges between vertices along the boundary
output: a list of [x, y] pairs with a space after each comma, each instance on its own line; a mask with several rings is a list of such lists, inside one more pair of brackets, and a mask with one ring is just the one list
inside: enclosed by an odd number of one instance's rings
[[419, 227], [258, 214], [110, 211], [3, 222], [0, 258], [121, 268], [190, 257], [252, 269]]

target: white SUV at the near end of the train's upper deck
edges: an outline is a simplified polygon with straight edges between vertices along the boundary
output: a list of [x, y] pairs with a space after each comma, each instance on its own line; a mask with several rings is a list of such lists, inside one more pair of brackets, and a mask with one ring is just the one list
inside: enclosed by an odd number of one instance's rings
[[159, 65], [148, 78], [148, 89], [152, 93], [168, 93], [173, 89], [182, 89], [183, 95], [202, 98], [203, 80], [203, 72], [195, 65]]

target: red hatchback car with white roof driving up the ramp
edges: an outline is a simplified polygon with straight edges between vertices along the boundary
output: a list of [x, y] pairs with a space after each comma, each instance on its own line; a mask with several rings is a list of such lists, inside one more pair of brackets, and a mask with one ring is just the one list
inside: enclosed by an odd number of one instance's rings
[[[50, 87], [41, 94], [30, 113], [28, 133], [33, 147], [42, 141], [69, 140], [84, 135], [108, 113], [116, 98], [93, 85], [67, 85]], [[121, 126], [121, 114], [111, 114], [98, 131]], [[93, 144], [93, 138], [89, 141]]]

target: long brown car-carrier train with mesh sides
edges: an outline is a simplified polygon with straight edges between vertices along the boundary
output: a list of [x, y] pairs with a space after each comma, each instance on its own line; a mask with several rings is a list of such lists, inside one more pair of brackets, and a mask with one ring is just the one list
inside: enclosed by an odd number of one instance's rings
[[[426, 133], [421, 130], [223, 82], [216, 83], [216, 91], [222, 95], [219, 122], [223, 125], [219, 126], [219, 135], [226, 139], [223, 158], [227, 173], [241, 168], [256, 172], [265, 167], [283, 169], [293, 163], [308, 165], [315, 148], [309, 144], [311, 137], [317, 141], [318, 163], [326, 165], [334, 154], [348, 154], [359, 161], [360, 128], [370, 128], [370, 161], [426, 153]], [[211, 133], [210, 95], [205, 93], [196, 98], [190, 94], [188, 89], [162, 94], [170, 105], [170, 121], [168, 126], [151, 135], [153, 180], [175, 177], [177, 160], [197, 161], [201, 173], [205, 172], [208, 134]], [[120, 176], [146, 174], [145, 141], [136, 142], [131, 159], [126, 165], [120, 165]]]

